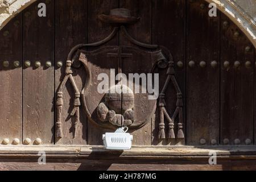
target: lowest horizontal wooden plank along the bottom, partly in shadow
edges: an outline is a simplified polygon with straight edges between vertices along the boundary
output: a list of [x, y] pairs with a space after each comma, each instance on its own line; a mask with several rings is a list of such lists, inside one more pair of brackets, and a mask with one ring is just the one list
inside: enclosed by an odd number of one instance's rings
[[[39, 165], [37, 159], [10, 162], [0, 160], [0, 170], [48, 170], [48, 171], [229, 171], [255, 170], [256, 160], [218, 160], [217, 165], [209, 165], [208, 160], [64, 160], [49, 159], [46, 165]], [[159, 179], [159, 178], [158, 178]]]

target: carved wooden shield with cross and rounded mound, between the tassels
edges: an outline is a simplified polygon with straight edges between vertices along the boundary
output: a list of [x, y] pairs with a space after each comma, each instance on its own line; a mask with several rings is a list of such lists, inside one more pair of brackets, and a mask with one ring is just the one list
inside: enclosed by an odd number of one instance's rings
[[[81, 56], [82, 55], [82, 56]], [[98, 86], [102, 80], [98, 79], [100, 73], [105, 73], [110, 79], [118, 73], [123, 73], [127, 78], [129, 74], [151, 73], [152, 68], [160, 59], [164, 59], [161, 51], [148, 52], [133, 47], [104, 47], [96, 51], [82, 51], [80, 61], [85, 65], [87, 82], [82, 90], [82, 105], [90, 121], [98, 126], [116, 129], [120, 126], [128, 126], [136, 129], [151, 121], [155, 113], [156, 100], [149, 100], [148, 92], [142, 92], [142, 80], [140, 80], [140, 93], [129, 85], [121, 86], [121, 93], [99, 93]], [[81, 60], [84, 59], [84, 60]], [[117, 82], [115, 82], [117, 84]], [[110, 83], [109, 83], [110, 85]], [[111, 87], [111, 86], [110, 86]], [[120, 87], [120, 84], [119, 84]], [[116, 89], [118, 85], [109, 89]], [[123, 89], [128, 91], [123, 92]]]

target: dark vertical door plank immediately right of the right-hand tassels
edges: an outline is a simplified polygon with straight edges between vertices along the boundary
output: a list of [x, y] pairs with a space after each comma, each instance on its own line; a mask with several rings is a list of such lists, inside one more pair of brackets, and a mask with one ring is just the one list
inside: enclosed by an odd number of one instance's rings
[[[204, 1], [187, 2], [188, 145], [211, 145], [212, 140], [218, 144], [220, 138], [220, 14], [210, 17], [208, 11]], [[217, 61], [215, 68], [212, 61]]]

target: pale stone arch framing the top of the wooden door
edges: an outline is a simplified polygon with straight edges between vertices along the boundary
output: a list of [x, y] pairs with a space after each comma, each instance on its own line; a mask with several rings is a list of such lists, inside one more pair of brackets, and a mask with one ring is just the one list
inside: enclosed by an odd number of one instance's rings
[[[37, 0], [0, 0], [0, 30], [23, 9]], [[205, 0], [216, 3], [256, 47], [256, 0]]]

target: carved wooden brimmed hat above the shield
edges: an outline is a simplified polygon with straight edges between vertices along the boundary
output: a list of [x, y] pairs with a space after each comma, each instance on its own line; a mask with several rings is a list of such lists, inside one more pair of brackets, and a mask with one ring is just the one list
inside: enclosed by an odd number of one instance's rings
[[131, 11], [127, 9], [110, 10], [109, 15], [101, 14], [98, 18], [105, 23], [132, 24], [138, 22], [139, 18], [131, 16]]

